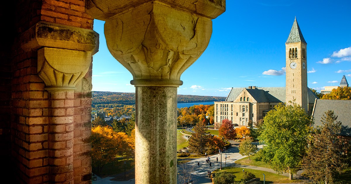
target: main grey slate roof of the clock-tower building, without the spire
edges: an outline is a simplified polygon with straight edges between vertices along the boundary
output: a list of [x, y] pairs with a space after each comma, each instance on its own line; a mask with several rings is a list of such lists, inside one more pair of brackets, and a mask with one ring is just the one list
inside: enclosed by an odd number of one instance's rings
[[[285, 103], [285, 87], [257, 87], [256, 89], [246, 88], [246, 90], [257, 102]], [[243, 88], [232, 88], [225, 101], [234, 101], [241, 91]], [[310, 88], [307, 89], [307, 95], [308, 103], [314, 103], [314, 100], [318, 99]]]

